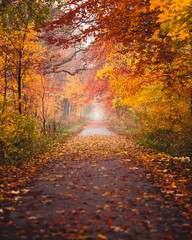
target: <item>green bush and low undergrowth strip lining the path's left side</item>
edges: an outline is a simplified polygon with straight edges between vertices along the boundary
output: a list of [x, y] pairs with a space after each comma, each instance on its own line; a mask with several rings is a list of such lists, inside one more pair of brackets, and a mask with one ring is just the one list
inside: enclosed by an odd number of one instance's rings
[[15, 111], [0, 116], [0, 165], [29, 161], [33, 156], [48, 151], [54, 144], [64, 142], [77, 132], [84, 122], [57, 122], [50, 119], [46, 134], [32, 117]]

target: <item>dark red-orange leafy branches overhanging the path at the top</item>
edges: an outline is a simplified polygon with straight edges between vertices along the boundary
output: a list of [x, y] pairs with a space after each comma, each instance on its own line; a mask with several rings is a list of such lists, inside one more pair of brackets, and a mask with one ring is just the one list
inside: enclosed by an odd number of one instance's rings
[[[70, 5], [73, 7], [70, 8]], [[175, 59], [180, 58], [183, 42], [179, 42], [177, 48], [173, 47], [173, 38], [166, 31], [161, 30], [161, 23], [157, 21], [158, 16], [163, 12], [158, 4], [156, 6], [155, 8], [150, 1], [143, 0], [85, 2], [71, 0], [64, 8], [64, 13], [52, 21], [51, 26], [50, 23], [47, 24], [46, 39], [64, 47], [90, 37], [93, 38], [92, 44], [97, 46], [103, 43], [106, 46], [122, 43], [125, 47], [124, 53], [132, 51], [139, 54], [135, 65], [137, 74], [143, 74], [146, 68], [158, 67], [160, 72], [165, 72], [161, 75], [161, 79], [164, 78], [167, 86], [174, 85], [174, 80], [171, 81], [172, 78], [168, 76], [173, 72], [173, 75], [175, 74], [173, 71], [175, 66], [169, 67], [169, 65], [174, 65]], [[70, 38], [49, 34], [54, 28], [61, 30], [64, 26], [74, 30]], [[189, 24], [187, 28], [189, 29]], [[158, 38], [155, 37], [157, 35]], [[159, 62], [162, 64], [159, 65]]]

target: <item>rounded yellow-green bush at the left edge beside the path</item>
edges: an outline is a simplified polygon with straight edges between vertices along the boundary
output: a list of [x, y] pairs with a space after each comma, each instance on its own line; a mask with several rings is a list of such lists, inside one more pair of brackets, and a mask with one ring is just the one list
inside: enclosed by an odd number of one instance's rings
[[40, 133], [37, 122], [17, 112], [6, 112], [0, 119], [1, 164], [30, 158]]

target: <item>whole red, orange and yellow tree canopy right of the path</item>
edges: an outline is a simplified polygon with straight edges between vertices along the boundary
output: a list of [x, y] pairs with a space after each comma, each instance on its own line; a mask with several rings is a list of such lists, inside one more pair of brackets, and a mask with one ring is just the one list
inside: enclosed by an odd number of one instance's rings
[[[45, 26], [45, 38], [66, 48], [92, 38], [92, 45], [109, 49], [103, 68], [88, 81], [93, 95], [111, 93], [114, 106], [134, 108], [145, 129], [150, 122], [153, 132], [168, 128], [168, 135], [174, 137], [182, 135], [184, 126], [190, 128], [191, 2], [68, 3], [52, 26]], [[74, 29], [70, 38], [49, 34], [64, 26]]]

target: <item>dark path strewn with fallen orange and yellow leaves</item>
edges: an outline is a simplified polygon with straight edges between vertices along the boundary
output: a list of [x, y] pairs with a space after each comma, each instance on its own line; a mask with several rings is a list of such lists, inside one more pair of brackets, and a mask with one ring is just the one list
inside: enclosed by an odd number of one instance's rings
[[0, 239], [190, 239], [189, 218], [137, 158], [122, 136], [70, 138], [37, 181], [14, 192], [16, 203], [1, 209]]

